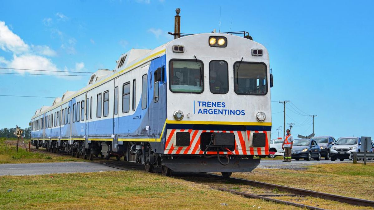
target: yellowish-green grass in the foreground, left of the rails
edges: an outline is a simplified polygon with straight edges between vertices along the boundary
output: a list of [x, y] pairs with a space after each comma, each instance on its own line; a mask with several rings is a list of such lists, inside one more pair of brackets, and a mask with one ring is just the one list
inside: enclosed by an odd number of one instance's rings
[[[12, 192], [7, 192], [12, 189]], [[140, 171], [3, 176], [0, 209], [298, 209]]]

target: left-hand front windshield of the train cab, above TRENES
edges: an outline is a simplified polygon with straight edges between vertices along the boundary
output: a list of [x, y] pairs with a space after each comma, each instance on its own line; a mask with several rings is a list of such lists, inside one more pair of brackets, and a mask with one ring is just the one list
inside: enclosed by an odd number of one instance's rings
[[174, 93], [202, 93], [204, 91], [203, 62], [171, 60], [169, 65], [170, 90]]

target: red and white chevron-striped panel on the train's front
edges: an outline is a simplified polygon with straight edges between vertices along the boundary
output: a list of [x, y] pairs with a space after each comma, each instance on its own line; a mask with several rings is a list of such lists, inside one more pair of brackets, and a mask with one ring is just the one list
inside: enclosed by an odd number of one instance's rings
[[[175, 133], [189, 132], [190, 146], [175, 146]], [[268, 136], [270, 131], [229, 131], [229, 130], [178, 130], [172, 129], [166, 131], [166, 143], [164, 154], [203, 154], [200, 150], [200, 135], [203, 132], [223, 132], [234, 133], [235, 135], [235, 150], [232, 151], [235, 155], [269, 155], [269, 141]], [[264, 147], [252, 146], [252, 134], [265, 133], [266, 144]], [[217, 152], [207, 152], [207, 154], [217, 154]], [[220, 152], [220, 154], [227, 154], [227, 152]]]

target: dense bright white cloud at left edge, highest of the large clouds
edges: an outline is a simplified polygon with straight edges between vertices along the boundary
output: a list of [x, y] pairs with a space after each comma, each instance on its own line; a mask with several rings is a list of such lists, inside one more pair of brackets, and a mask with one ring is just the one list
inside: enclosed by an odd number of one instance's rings
[[29, 50], [29, 46], [18, 35], [10, 31], [3, 21], [0, 21], [0, 48], [17, 54]]

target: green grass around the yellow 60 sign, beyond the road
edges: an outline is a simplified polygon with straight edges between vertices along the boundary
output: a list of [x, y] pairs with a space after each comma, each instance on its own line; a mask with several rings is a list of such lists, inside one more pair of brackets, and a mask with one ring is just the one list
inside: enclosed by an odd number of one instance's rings
[[[42, 152], [28, 152], [19, 140], [18, 152], [16, 152], [15, 139], [0, 138], [0, 164], [3, 163], [44, 163], [58, 161], [83, 161], [82, 158], [71, 158], [65, 155], [47, 154]], [[27, 142], [28, 139], [24, 140]]]

